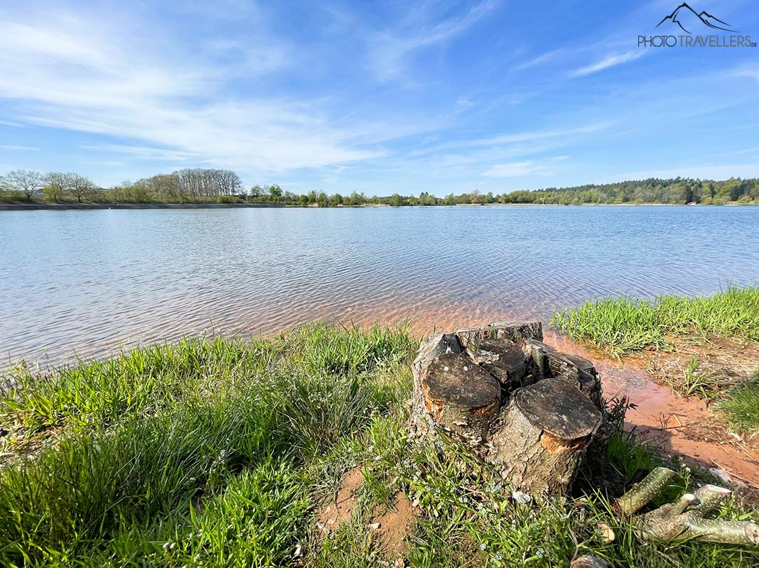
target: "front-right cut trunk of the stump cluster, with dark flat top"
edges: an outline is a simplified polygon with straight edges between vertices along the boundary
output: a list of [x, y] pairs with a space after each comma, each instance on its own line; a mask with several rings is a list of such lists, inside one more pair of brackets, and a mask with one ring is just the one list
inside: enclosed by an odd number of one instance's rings
[[493, 426], [488, 460], [526, 493], [563, 493], [600, 427], [601, 413], [564, 381], [546, 379], [523, 388]]

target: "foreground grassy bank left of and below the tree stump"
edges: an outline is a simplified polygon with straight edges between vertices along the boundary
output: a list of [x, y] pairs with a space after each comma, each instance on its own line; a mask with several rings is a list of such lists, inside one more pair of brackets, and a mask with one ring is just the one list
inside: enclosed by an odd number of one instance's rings
[[[406, 330], [313, 325], [275, 340], [187, 339], [8, 379], [0, 401], [2, 566], [392, 565], [378, 511], [417, 505], [411, 566], [567, 566], [597, 551], [615, 566], [748, 566], [756, 551], [648, 544], [609, 511], [655, 460], [611, 414], [609, 449], [578, 494], [528, 506], [452, 444], [405, 431]], [[364, 482], [351, 519], [323, 536], [320, 504], [342, 475]], [[685, 481], [673, 491], [685, 491]], [[722, 513], [744, 517], [735, 504]], [[603, 542], [603, 520], [618, 538]]]

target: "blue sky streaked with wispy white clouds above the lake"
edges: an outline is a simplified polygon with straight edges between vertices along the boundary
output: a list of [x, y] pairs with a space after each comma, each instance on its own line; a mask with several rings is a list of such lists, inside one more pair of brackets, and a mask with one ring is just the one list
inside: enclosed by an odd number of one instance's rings
[[[690, 4], [759, 41], [759, 3]], [[677, 5], [0, 0], [0, 172], [379, 195], [759, 177], [759, 49], [639, 48]]]

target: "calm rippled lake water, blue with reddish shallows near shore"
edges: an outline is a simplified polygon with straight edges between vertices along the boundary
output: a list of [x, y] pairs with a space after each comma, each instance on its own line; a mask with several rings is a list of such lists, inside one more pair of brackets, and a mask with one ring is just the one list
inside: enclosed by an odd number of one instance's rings
[[0, 212], [0, 356], [43, 364], [319, 318], [546, 320], [759, 280], [759, 207]]

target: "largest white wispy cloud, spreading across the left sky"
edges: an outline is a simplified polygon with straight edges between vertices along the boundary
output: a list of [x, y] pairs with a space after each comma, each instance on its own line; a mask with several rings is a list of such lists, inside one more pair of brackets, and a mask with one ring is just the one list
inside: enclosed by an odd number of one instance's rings
[[249, 80], [286, 64], [278, 54], [288, 49], [268, 39], [258, 47], [216, 42], [187, 57], [165, 31], [135, 31], [141, 21], [54, 11], [24, 19], [2, 9], [0, 20], [0, 77], [13, 77], [0, 82], [0, 98], [11, 99], [16, 121], [141, 140], [110, 149], [142, 158], [157, 146], [156, 158], [246, 171], [383, 155], [354, 140], [364, 124], [334, 127], [315, 103], [225, 92], [230, 78]]

